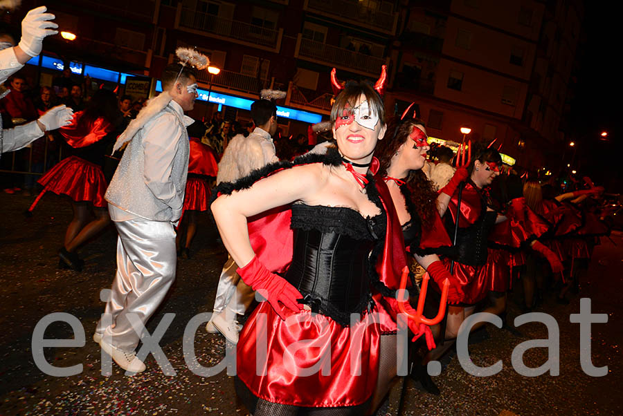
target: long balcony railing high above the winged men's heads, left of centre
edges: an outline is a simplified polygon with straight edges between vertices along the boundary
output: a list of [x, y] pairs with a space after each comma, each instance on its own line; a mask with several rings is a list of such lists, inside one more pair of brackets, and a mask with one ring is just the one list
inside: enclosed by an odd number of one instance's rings
[[281, 41], [281, 30], [262, 28], [262, 26], [244, 23], [244, 21], [224, 19], [189, 8], [181, 8], [179, 26], [271, 49], [278, 49]]

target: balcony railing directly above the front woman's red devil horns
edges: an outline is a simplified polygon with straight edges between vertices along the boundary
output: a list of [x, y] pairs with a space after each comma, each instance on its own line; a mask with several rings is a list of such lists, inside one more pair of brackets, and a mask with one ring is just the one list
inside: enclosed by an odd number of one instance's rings
[[332, 66], [341, 66], [351, 72], [365, 73], [366, 75], [378, 75], [381, 66], [386, 64], [386, 59], [384, 58], [373, 57], [310, 39], [303, 39], [300, 34], [298, 38], [299, 46], [296, 56], [302, 59], [311, 58], [313, 62], [326, 62]]

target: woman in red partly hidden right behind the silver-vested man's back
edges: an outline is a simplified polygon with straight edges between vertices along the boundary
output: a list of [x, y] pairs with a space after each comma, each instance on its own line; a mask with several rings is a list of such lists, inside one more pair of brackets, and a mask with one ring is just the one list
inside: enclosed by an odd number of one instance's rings
[[197, 233], [197, 215], [199, 212], [208, 211], [208, 201], [212, 194], [208, 181], [210, 178], [216, 178], [218, 172], [218, 162], [214, 151], [210, 149], [210, 146], [201, 142], [205, 130], [203, 123], [193, 123], [188, 126], [190, 140], [188, 178], [182, 216], [175, 238], [178, 255], [183, 258], [190, 258], [190, 243]]

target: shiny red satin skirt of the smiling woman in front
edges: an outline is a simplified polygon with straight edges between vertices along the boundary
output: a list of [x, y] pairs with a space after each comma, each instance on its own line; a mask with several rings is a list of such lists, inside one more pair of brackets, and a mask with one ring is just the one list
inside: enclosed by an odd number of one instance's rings
[[237, 376], [251, 393], [300, 407], [356, 406], [368, 400], [379, 366], [378, 314], [364, 314], [343, 327], [322, 314], [283, 309], [286, 321], [261, 303], [240, 332]]

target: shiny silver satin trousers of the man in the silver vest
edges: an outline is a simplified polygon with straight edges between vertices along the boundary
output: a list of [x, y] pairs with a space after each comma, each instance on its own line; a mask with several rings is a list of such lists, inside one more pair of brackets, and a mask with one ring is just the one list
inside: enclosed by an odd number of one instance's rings
[[96, 332], [111, 335], [116, 348], [132, 351], [138, 345], [137, 334], [127, 314], [138, 316], [143, 325], [159, 307], [175, 280], [177, 254], [172, 223], [150, 220], [116, 222], [117, 273], [111, 287], [105, 314], [112, 325], [105, 328], [100, 319]]

